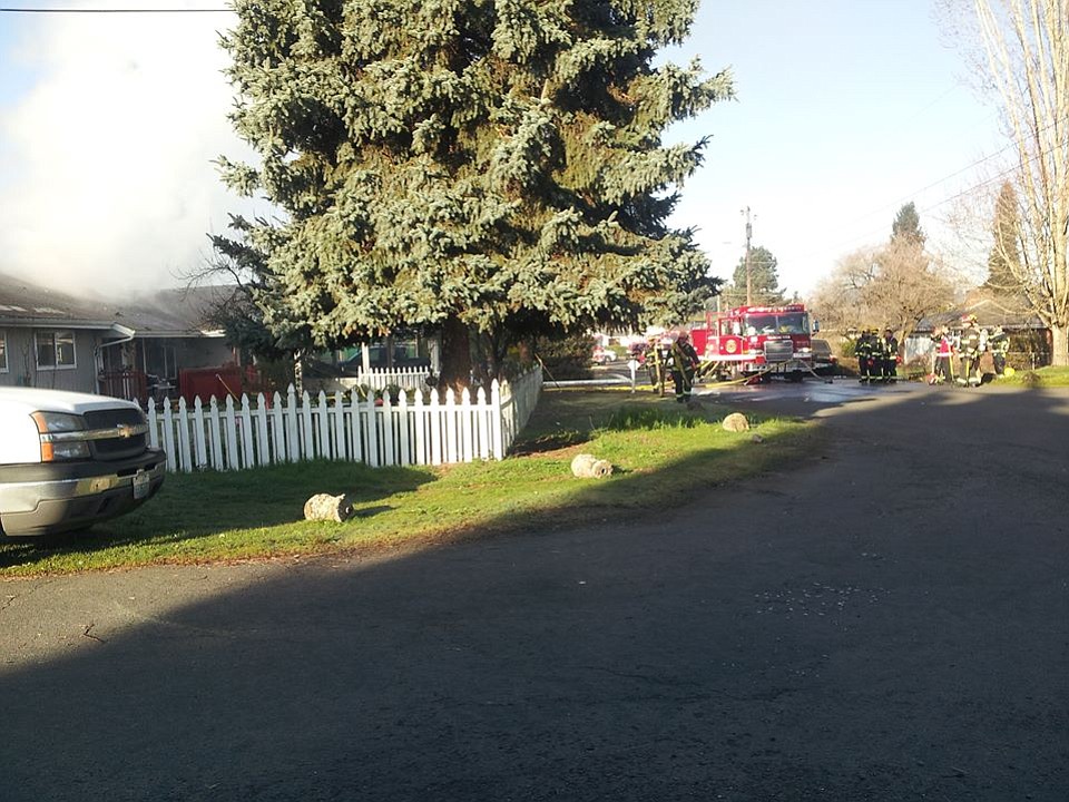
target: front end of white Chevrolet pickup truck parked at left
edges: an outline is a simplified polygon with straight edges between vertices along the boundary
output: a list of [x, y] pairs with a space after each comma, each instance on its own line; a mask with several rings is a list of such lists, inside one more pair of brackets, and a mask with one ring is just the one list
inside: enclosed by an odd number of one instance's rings
[[129, 512], [159, 490], [166, 467], [131, 401], [0, 388], [2, 535], [85, 529]]

